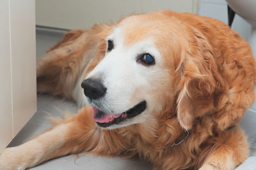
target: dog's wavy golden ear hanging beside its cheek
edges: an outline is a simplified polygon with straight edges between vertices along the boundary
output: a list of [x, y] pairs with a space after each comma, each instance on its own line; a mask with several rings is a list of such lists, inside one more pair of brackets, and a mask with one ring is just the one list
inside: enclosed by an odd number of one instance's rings
[[177, 96], [177, 118], [184, 129], [214, 108], [214, 92], [221, 78], [212, 48], [203, 36], [193, 34], [193, 45], [184, 49], [176, 71], [181, 75]]

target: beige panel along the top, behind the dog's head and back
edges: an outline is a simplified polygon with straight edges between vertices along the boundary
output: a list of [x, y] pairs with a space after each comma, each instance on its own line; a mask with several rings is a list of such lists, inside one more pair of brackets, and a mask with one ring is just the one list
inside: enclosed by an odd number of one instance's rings
[[36, 0], [36, 25], [86, 29], [131, 13], [170, 9], [196, 13], [198, 0]]

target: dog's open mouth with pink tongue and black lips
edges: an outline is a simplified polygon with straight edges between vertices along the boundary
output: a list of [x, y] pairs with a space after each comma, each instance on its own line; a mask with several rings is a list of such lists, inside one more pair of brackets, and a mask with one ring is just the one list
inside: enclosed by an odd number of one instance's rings
[[100, 127], [109, 127], [110, 125], [124, 122], [124, 120], [127, 118], [140, 115], [140, 113], [142, 113], [147, 108], [147, 102], [142, 101], [141, 103], [133, 106], [131, 109], [119, 114], [105, 113], [98, 108], [95, 108], [94, 106], [92, 108], [92, 118], [97, 122], [97, 124]]

